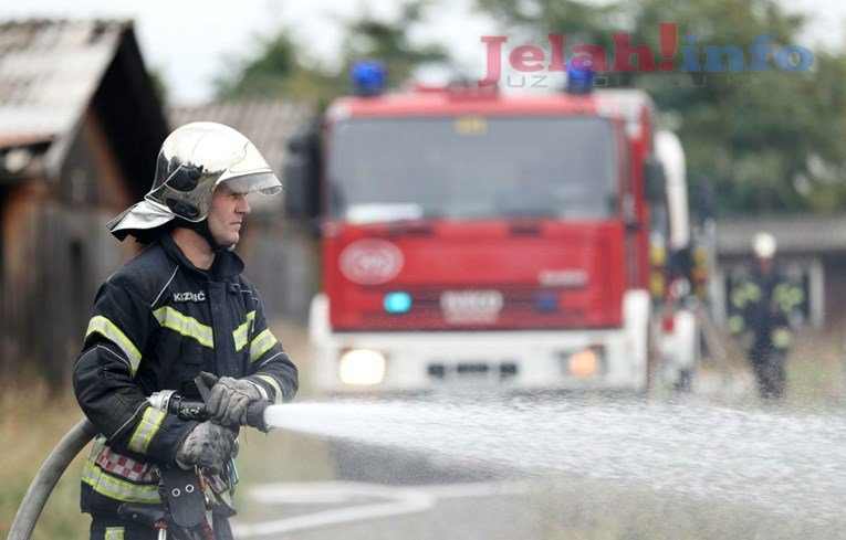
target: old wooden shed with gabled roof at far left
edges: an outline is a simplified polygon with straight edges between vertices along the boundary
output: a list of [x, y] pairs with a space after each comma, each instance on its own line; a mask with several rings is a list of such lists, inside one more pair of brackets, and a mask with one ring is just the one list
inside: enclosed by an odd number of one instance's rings
[[[0, 375], [65, 381], [168, 124], [129, 21], [0, 23]], [[23, 362], [23, 363], [22, 363]]]

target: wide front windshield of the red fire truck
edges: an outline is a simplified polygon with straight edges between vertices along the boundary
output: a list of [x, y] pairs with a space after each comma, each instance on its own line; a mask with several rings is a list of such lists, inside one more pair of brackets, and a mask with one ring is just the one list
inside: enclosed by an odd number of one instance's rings
[[552, 218], [617, 213], [617, 148], [596, 117], [354, 118], [334, 125], [332, 215]]

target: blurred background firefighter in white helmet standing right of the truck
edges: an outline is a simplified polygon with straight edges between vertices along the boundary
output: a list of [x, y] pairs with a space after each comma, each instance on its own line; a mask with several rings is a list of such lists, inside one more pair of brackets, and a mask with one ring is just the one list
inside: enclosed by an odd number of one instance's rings
[[792, 316], [804, 301], [804, 292], [776, 267], [772, 234], [758, 233], [752, 247], [755, 261], [751, 273], [734, 276], [730, 284], [729, 329], [746, 346], [761, 398], [777, 400], [786, 387]]

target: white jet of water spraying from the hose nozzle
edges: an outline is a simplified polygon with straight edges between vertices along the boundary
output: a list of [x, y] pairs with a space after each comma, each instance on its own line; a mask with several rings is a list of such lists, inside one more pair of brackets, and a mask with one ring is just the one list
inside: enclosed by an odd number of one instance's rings
[[840, 414], [485, 396], [299, 402], [270, 406], [265, 417], [286, 432], [425, 456], [445, 470], [584, 478], [792, 519], [801, 509], [808, 522], [842, 520], [846, 499]]

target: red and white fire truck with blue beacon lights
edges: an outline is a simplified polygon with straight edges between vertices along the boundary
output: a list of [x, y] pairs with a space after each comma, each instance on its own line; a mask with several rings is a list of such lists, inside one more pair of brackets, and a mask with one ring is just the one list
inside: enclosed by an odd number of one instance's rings
[[685, 157], [646, 93], [594, 91], [589, 71], [531, 96], [358, 75], [285, 167], [289, 214], [320, 223], [318, 389], [689, 379]]

